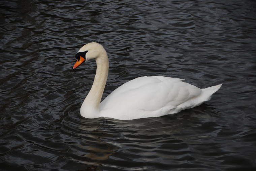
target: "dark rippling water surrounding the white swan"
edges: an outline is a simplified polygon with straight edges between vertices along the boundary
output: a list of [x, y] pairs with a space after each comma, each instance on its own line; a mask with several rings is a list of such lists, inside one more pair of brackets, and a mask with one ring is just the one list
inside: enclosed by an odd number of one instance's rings
[[[0, 1], [0, 170], [255, 170], [254, 0]], [[85, 119], [95, 61], [109, 56], [105, 98], [139, 77], [223, 83], [176, 115]]]

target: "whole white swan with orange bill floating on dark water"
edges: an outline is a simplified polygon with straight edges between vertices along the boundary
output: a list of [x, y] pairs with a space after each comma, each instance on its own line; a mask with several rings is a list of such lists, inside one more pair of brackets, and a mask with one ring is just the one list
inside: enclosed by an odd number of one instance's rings
[[97, 65], [93, 85], [80, 109], [85, 118], [132, 120], [174, 114], [210, 100], [222, 85], [200, 89], [179, 78], [146, 76], [121, 85], [100, 102], [108, 75], [107, 52], [92, 42], [84, 45], [75, 58], [73, 69], [89, 59], [95, 59]]

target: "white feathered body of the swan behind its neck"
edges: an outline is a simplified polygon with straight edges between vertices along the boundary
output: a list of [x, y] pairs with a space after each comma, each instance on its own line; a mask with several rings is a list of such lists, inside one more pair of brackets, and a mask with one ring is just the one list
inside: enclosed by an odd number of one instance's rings
[[110, 93], [100, 103], [100, 115], [129, 120], [173, 114], [200, 105], [217, 91], [203, 93], [203, 90], [182, 79], [139, 77]]

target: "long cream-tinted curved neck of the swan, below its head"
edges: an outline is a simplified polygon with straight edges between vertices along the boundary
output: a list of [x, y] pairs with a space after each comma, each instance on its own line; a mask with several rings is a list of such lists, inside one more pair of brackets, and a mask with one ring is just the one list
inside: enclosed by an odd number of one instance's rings
[[108, 57], [106, 51], [102, 51], [101, 55], [96, 59], [96, 75], [92, 88], [86, 96], [80, 113], [85, 118], [97, 118], [99, 116], [100, 100], [106, 85], [108, 75]]

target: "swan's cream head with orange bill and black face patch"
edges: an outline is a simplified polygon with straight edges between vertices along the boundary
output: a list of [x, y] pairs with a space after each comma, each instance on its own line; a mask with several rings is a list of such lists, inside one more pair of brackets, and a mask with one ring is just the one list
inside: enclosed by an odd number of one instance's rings
[[73, 69], [81, 65], [84, 61], [89, 59], [95, 59], [100, 56], [100, 54], [106, 53], [102, 45], [96, 42], [88, 43], [84, 45], [78, 52], [75, 54], [76, 63], [73, 66]]

